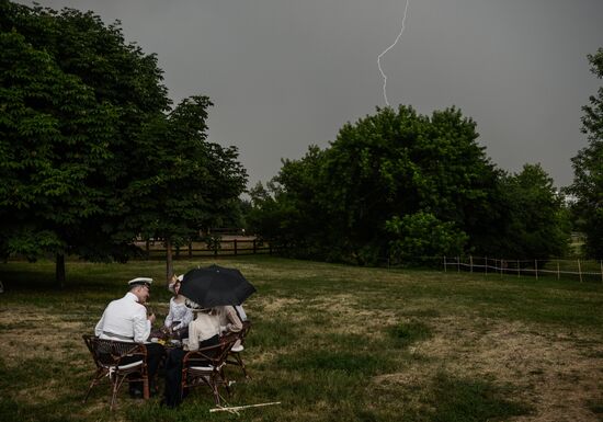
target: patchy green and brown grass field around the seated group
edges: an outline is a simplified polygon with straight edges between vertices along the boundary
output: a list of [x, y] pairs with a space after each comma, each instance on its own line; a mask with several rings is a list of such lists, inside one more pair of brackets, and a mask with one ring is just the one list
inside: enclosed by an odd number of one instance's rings
[[[184, 272], [213, 261], [177, 261]], [[244, 353], [252, 378], [209, 413], [198, 387], [177, 410], [109, 387], [81, 399], [93, 363], [81, 340], [126, 281], [161, 262], [0, 265], [0, 421], [603, 421], [603, 284], [362, 269], [246, 256], [258, 293]], [[162, 320], [169, 292], [155, 286]]]

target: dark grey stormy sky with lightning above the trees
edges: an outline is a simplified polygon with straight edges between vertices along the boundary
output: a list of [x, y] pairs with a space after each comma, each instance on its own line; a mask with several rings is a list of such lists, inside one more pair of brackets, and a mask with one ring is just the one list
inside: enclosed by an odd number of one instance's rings
[[[22, 1], [31, 4], [31, 2]], [[178, 103], [215, 103], [209, 138], [235, 145], [250, 185], [281, 158], [333, 140], [384, 106], [377, 57], [406, 0], [38, 0], [122, 22], [158, 56]], [[557, 186], [585, 146], [581, 106], [601, 84], [587, 54], [603, 47], [603, 0], [410, 0], [382, 59], [387, 98], [422, 114], [456, 105], [500, 168], [542, 163]]]

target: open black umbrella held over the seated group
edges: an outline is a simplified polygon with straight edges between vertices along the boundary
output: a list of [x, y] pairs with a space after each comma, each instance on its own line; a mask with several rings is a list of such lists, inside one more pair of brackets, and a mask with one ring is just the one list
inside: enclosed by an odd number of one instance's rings
[[184, 274], [180, 294], [198, 305], [211, 308], [220, 305], [240, 305], [255, 287], [237, 269], [211, 265]]

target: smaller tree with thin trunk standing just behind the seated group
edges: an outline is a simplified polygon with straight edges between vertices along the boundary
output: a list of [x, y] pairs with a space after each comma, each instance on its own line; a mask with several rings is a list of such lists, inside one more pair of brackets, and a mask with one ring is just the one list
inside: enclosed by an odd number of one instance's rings
[[174, 243], [190, 241], [202, 228], [221, 226], [238, 209], [247, 182], [237, 149], [206, 140], [211, 105], [207, 96], [191, 96], [149, 122], [135, 142], [135, 174], [120, 195], [130, 208], [120, 236], [162, 239], [168, 280]]

